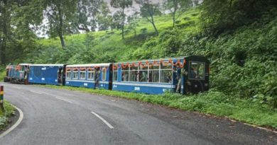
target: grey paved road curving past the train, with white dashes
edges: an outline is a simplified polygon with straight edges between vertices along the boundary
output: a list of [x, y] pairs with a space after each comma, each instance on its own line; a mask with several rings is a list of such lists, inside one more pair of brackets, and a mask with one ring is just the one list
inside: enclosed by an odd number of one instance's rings
[[136, 100], [4, 83], [24, 118], [1, 145], [277, 144], [277, 134], [239, 122]]

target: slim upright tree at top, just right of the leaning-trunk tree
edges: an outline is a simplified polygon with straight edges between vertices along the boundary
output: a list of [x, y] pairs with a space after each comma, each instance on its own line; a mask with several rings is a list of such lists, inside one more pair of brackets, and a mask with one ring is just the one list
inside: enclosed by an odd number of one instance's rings
[[[173, 28], [175, 27], [175, 21], [181, 16], [180, 11], [185, 11], [186, 8], [192, 6], [191, 0], [166, 0], [163, 4], [166, 10], [169, 10], [173, 18]], [[176, 13], [179, 15], [176, 16]]]

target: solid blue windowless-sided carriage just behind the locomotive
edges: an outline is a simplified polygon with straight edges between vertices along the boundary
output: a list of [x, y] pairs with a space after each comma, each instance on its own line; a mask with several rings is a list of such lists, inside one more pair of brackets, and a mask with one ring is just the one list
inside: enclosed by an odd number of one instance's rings
[[29, 83], [63, 85], [65, 83], [65, 64], [31, 64]]

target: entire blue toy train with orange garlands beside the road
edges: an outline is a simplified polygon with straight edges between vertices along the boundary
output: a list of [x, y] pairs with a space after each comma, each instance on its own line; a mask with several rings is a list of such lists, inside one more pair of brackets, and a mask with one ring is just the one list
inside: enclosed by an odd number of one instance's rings
[[4, 81], [159, 94], [209, 89], [210, 62], [188, 56], [106, 64], [19, 64], [6, 66]]

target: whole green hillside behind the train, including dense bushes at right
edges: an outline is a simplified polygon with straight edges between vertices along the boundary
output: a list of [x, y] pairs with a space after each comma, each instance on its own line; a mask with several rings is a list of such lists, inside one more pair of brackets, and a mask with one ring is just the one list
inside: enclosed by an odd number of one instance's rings
[[276, 13], [273, 9], [248, 25], [214, 36], [203, 32], [200, 10], [192, 8], [180, 16], [175, 28], [170, 15], [156, 16], [158, 37], [151, 24], [141, 18], [137, 35], [126, 30], [124, 40], [120, 30], [67, 35], [65, 50], [58, 38], [38, 40], [38, 50], [28, 54], [26, 62], [85, 64], [203, 55], [212, 62], [212, 88], [275, 108]]

